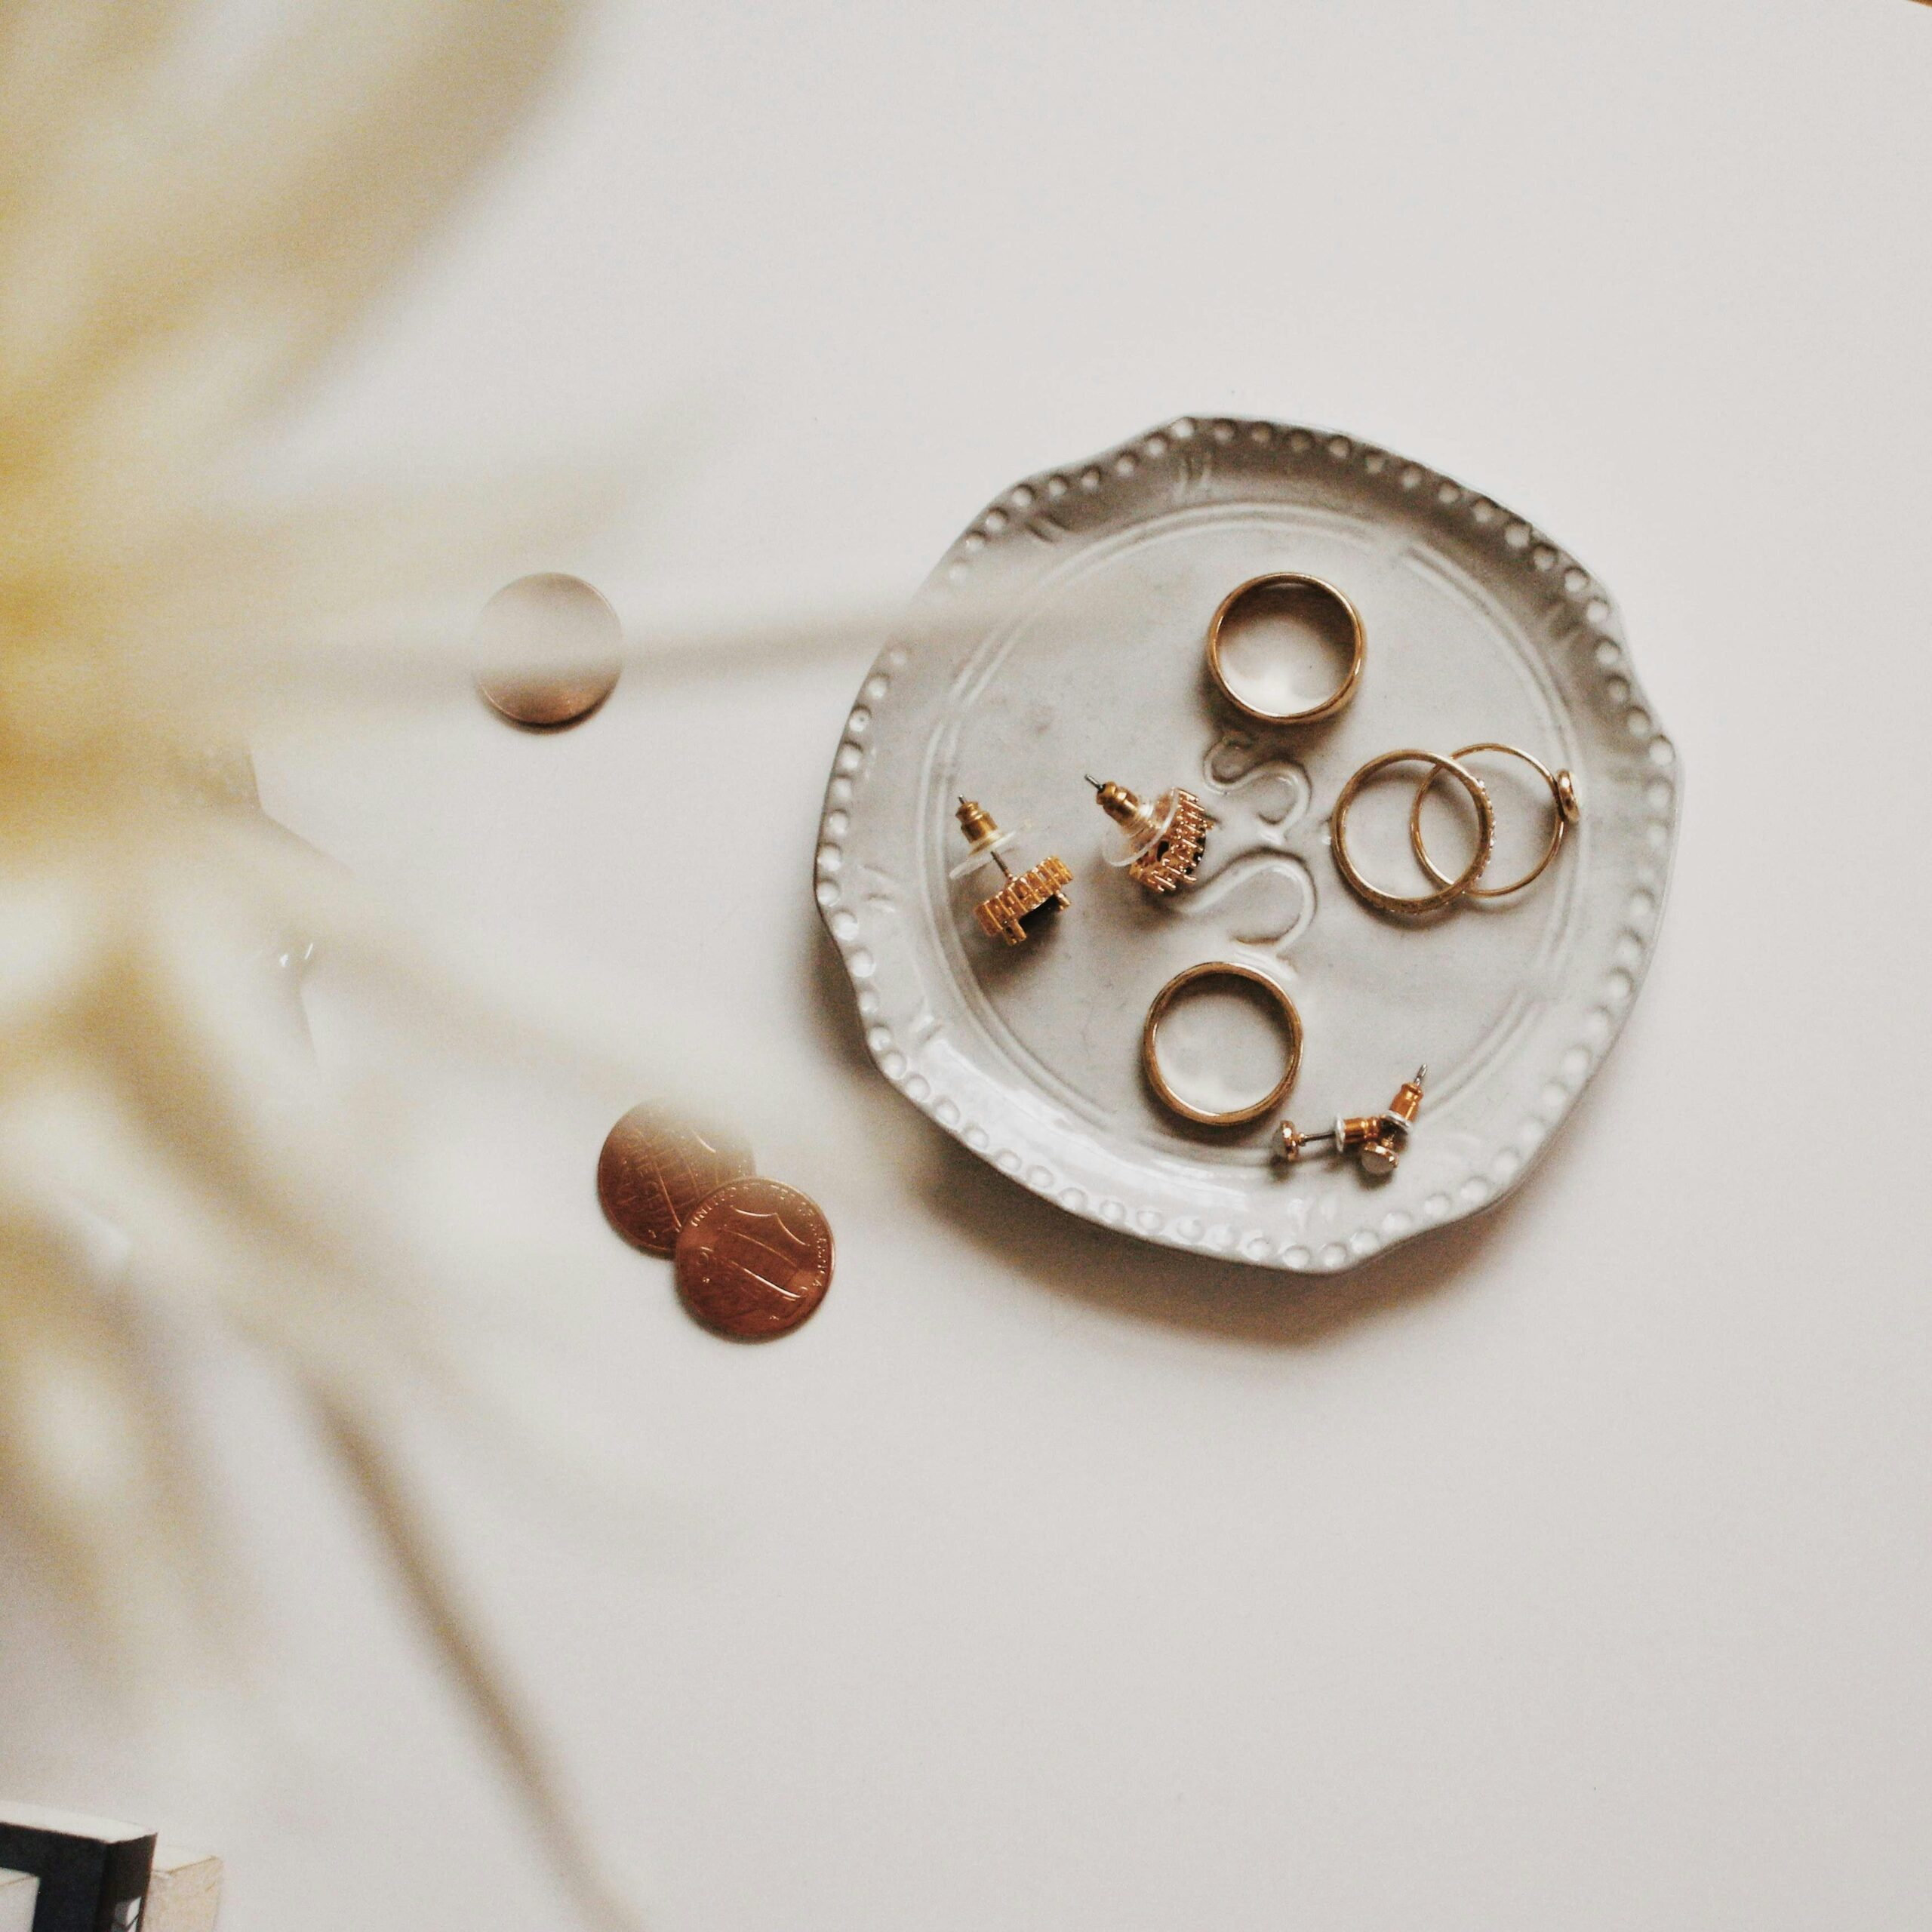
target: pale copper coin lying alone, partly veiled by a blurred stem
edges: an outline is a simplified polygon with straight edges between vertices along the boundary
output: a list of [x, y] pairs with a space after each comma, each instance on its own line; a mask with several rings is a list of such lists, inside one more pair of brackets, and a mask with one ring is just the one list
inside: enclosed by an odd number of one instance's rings
[[616, 611], [582, 578], [518, 578], [477, 618], [477, 690], [512, 724], [562, 730], [616, 690], [622, 647]]

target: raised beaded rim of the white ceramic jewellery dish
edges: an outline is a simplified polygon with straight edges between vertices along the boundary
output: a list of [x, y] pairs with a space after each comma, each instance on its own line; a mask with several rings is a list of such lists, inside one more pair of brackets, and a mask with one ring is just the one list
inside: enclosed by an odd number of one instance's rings
[[[1410, 462], [1372, 442], [1339, 431], [1308, 425], [1271, 423], [1235, 417], [1180, 415], [1140, 437], [1130, 437], [1088, 464], [1041, 471], [1005, 491], [989, 504], [951, 551], [941, 558], [929, 587], [958, 585], [989, 545], [1020, 537], [1059, 541], [1066, 535], [1051, 506], [1076, 491], [1099, 495], [1111, 477], [1128, 479], [1146, 464], [1184, 458], [1186, 450], [1206, 439], [1213, 444], [1246, 440], [1256, 446], [1285, 448], [1294, 458], [1310, 462], [1325, 458], [1337, 466], [1360, 464], [1364, 473], [1393, 483], [1405, 495], [1432, 495], [1439, 510], [1466, 516], [1470, 524], [1493, 541], [1505, 560], [1515, 562], [1548, 593], [1559, 595], [1573, 611], [1571, 643], [1588, 649], [1596, 665], [1605, 701], [1623, 709], [1623, 726], [1633, 750], [1640, 750], [1648, 765], [1644, 781], [1644, 837], [1652, 858], [1633, 875], [1633, 891], [1625, 902], [1623, 927], [1611, 947], [1609, 970], [1598, 983], [1598, 999], [1584, 1016], [1580, 1037], [1565, 1049], [1540, 1094], [1536, 1105], [1509, 1134], [1501, 1148], [1468, 1173], [1451, 1192], [1437, 1188], [1422, 1202], [1420, 1219], [1406, 1209], [1389, 1209], [1376, 1221], [1356, 1227], [1347, 1236], [1327, 1240], [1320, 1248], [1296, 1240], [1281, 1240], [1264, 1227], [1206, 1223], [1198, 1215], [1167, 1215], [1151, 1208], [1134, 1208], [1117, 1196], [1094, 1198], [1086, 1188], [1070, 1186], [1043, 1161], [1028, 1161], [1022, 1150], [995, 1146], [993, 1134], [966, 1117], [960, 1103], [920, 1072], [891, 1028], [877, 1022], [879, 993], [873, 987], [877, 960], [864, 941], [860, 916], [846, 904], [842, 887], [844, 838], [850, 831], [850, 808], [866, 773], [871, 750], [871, 726], [877, 707], [891, 694], [895, 676], [906, 667], [910, 651], [904, 643], [889, 643], [879, 653], [860, 701], [846, 717], [844, 734], [833, 755], [833, 775], [825, 786], [825, 810], [819, 821], [813, 896], [819, 916], [844, 960], [854, 997], [866, 1024], [866, 1047], [885, 1078], [916, 1107], [935, 1119], [947, 1132], [974, 1153], [991, 1161], [1001, 1173], [1024, 1182], [1036, 1194], [1053, 1200], [1068, 1213], [1099, 1221], [1103, 1227], [1126, 1229], [1148, 1240], [1173, 1248], [1194, 1248], [1227, 1254], [1238, 1260], [1287, 1269], [1291, 1273], [1333, 1273], [1368, 1260], [1393, 1242], [1406, 1240], [1428, 1227], [1493, 1206], [1515, 1188], [1530, 1163], [1546, 1146], [1551, 1130], [1569, 1113], [1590, 1074], [1602, 1063], [1609, 1041], [1619, 1032], [1656, 943], [1669, 887], [1671, 856], [1677, 833], [1677, 798], [1681, 775], [1677, 752], [1669, 736], [1656, 726], [1656, 717], [1644, 701], [1629, 663], [1617, 624], [1615, 603], [1607, 589], [1590, 576], [1567, 551], [1551, 543], [1526, 518], [1505, 510], [1480, 491], [1466, 489], [1424, 464]], [[918, 1041], [914, 1043], [918, 1047]]]

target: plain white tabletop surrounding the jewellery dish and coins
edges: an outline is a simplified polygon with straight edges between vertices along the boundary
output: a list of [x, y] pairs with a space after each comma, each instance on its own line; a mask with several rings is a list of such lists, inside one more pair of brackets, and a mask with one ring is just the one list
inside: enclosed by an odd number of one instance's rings
[[[597, 1225], [611, 1109], [477, 1128], [605, 1293], [560, 1349], [655, 1501], [614, 1538], [487, 1455], [439, 1495], [653, 1926], [1932, 1924], [1928, 199], [1909, 0], [626, 10], [340, 373], [317, 464], [643, 423], [659, 487], [543, 560], [645, 643], [891, 601], [1165, 415], [1329, 423], [1598, 572], [1683, 759], [1584, 1103], [1335, 1283], [895, 1109], [792, 1155], [838, 1279], [732, 1350]], [[265, 794], [831, 1105], [875, 1086], [808, 891], [867, 655], [634, 667], [558, 738], [452, 703]], [[4, 1783], [226, 1853], [236, 1932], [570, 1924], [276, 1383], [201, 1379], [303, 1729], [245, 1777], [110, 1748], [15, 1627]]]

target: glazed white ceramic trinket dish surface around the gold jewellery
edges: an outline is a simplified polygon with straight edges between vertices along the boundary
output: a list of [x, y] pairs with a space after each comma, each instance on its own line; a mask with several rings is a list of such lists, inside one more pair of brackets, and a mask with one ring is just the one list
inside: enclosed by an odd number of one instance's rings
[[[1325, 578], [1362, 614], [1362, 686], [1331, 724], [1258, 726], [1206, 676], [1215, 605], [1269, 570]], [[1492, 738], [1575, 773], [1582, 821], [1557, 862], [1428, 925], [1370, 912], [1327, 850], [1349, 773]], [[1219, 819], [1198, 883], [1151, 900], [1107, 867], [1082, 773], [1198, 792]], [[1528, 810], [1505, 777], [1497, 813]], [[985, 887], [949, 879], [960, 792], [1026, 827], [1018, 864], [1057, 852], [1074, 871], [1070, 910], [1024, 947], [987, 943]], [[1331, 1271], [1530, 1173], [1642, 981], [1677, 798], [1609, 593], [1542, 531], [1354, 437], [1182, 417], [1028, 477], [941, 558], [846, 723], [815, 891], [879, 1070], [947, 1132], [1068, 1213]], [[1304, 1130], [1379, 1111], [1428, 1061], [1393, 1177], [1283, 1171], [1269, 1121], [1204, 1132], [1153, 1101], [1142, 1016], [1206, 958], [1294, 999], [1285, 1111]]]

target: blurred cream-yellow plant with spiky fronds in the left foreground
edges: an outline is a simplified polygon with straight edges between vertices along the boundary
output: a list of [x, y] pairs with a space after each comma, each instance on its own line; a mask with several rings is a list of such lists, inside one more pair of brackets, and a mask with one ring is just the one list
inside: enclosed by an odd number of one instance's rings
[[[381, 1180], [381, 1095], [357, 1111], [319, 1082], [274, 960], [319, 945], [466, 1049], [605, 1074], [616, 1003], [506, 991], [398, 929], [218, 755], [267, 719], [446, 694], [452, 636], [427, 612], [493, 545], [612, 497], [597, 471], [508, 512], [500, 487], [288, 502], [247, 481], [570, 15], [313, 0], [211, 71], [193, 6], [0, 10], [0, 1507], [99, 1654], [193, 1681], [224, 1551], [147, 1327], [187, 1312], [243, 1335], [313, 1405], [587, 1917], [620, 1924], [388, 1432], [425, 1387], [553, 1445], [570, 1418], [458, 1347], [466, 1294], [497, 1291], [423, 1252]], [[686, 641], [835, 636], [852, 626]], [[786, 1099], [773, 1063], [753, 1080], [734, 1028], [713, 1037], [736, 1061], [697, 1066], [680, 1041], [703, 1032], [653, 1043], [647, 1092], [703, 1082], [755, 1128], [746, 1109]]]

